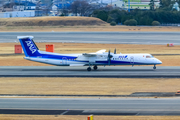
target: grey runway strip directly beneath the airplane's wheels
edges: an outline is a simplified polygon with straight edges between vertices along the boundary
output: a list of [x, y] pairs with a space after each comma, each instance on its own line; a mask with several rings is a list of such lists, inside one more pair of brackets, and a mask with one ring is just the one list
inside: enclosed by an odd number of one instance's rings
[[180, 78], [180, 67], [107, 66], [87, 71], [87, 67], [1, 66], [0, 77], [109, 77], [109, 78]]

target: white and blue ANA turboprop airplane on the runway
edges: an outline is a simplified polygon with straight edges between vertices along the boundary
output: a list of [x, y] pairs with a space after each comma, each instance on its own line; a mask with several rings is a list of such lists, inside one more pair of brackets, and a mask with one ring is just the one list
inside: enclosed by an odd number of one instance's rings
[[26, 57], [24, 59], [57, 65], [57, 66], [88, 66], [87, 70], [91, 71], [93, 66], [97, 70], [97, 66], [110, 65], [154, 65], [162, 64], [160, 60], [154, 58], [150, 54], [116, 54], [99, 50], [96, 53], [82, 54], [57, 54], [51, 52], [40, 51], [33, 41], [33, 36], [18, 36]]

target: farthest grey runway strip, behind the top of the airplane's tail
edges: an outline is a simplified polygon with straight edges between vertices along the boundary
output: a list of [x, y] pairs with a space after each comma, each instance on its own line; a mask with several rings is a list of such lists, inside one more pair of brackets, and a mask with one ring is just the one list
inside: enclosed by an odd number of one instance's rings
[[35, 42], [180, 45], [180, 32], [0, 32], [0, 42], [19, 42], [17, 36], [30, 35]]

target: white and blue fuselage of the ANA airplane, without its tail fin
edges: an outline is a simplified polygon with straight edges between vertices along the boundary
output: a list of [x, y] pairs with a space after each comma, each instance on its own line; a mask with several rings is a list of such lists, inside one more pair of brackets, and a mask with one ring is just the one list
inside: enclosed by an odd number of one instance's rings
[[58, 66], [89, 66], [89, 65], [156, 65], [162, 64], [160, 60], [150, 54], [113, 54], [110, 64], [108, 63], [108, 53], [100, 53], [95, 56], [83, 54], [56, 54], [42, 52], [42, 56], [25, 57], [27, 60], [58, 65]]

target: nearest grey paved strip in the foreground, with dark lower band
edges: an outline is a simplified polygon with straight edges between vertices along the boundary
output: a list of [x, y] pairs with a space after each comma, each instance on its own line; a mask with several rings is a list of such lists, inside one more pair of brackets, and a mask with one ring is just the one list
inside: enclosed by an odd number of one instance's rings
[[0, 98], [0, 114], [180, 115], [180, 98]]

